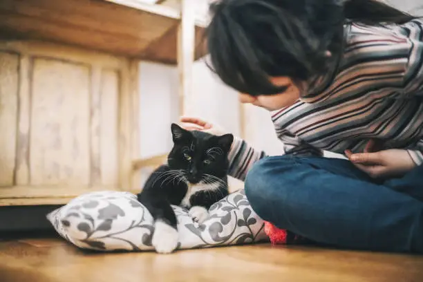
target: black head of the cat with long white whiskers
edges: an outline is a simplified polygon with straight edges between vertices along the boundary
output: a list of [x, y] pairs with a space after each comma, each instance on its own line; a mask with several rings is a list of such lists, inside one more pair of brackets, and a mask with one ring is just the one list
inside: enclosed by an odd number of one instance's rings
[[171, 125], [173, 149], [169, 153], [171, 169], [182, 171], [192, 184], [213, 182], [227, 175], [227, 154], [234, 136], [211, 135], [202, 131], [187, 131], [177, 124]]

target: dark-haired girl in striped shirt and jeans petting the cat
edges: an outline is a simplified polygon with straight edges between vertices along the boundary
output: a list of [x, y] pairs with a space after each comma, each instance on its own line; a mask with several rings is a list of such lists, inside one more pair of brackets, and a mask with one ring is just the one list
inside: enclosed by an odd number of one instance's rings
[[257, 214], [318, 243], [423, 253], [423, 21], [376, 0], [211, 10], [213, 70], [241, 102], [270, 111], [285, 144], [267, 158], [232, 146], [230, 174]]

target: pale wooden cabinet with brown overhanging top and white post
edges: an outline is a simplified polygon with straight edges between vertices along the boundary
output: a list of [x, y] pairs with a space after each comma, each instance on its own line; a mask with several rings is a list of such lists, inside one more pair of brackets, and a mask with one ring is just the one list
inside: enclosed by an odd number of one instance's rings
[[0, 1], [0, 205], [139, 191], [163, 156], [138, 159], [138, 64], [178, 63], [185, 112], [205, 54], [192, 1]]

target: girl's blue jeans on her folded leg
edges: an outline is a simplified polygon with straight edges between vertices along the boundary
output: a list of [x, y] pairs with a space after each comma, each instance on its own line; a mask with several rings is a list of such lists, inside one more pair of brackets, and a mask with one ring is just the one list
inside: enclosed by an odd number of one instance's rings
[[270, 157], [245, 194], [261, 218], [317, 243], [423, 253], [423, 166], [377, 182], [348, 160]]

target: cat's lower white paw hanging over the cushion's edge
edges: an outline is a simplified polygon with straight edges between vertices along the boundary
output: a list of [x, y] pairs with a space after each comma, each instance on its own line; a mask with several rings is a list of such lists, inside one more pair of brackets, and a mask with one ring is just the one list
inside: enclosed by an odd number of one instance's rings
[[156, 249], [156, 252], [170, 254], [178, 246], [178, 230], [164, 223], [162, 220], [157, 220], [154, 224], [151, 243]]

